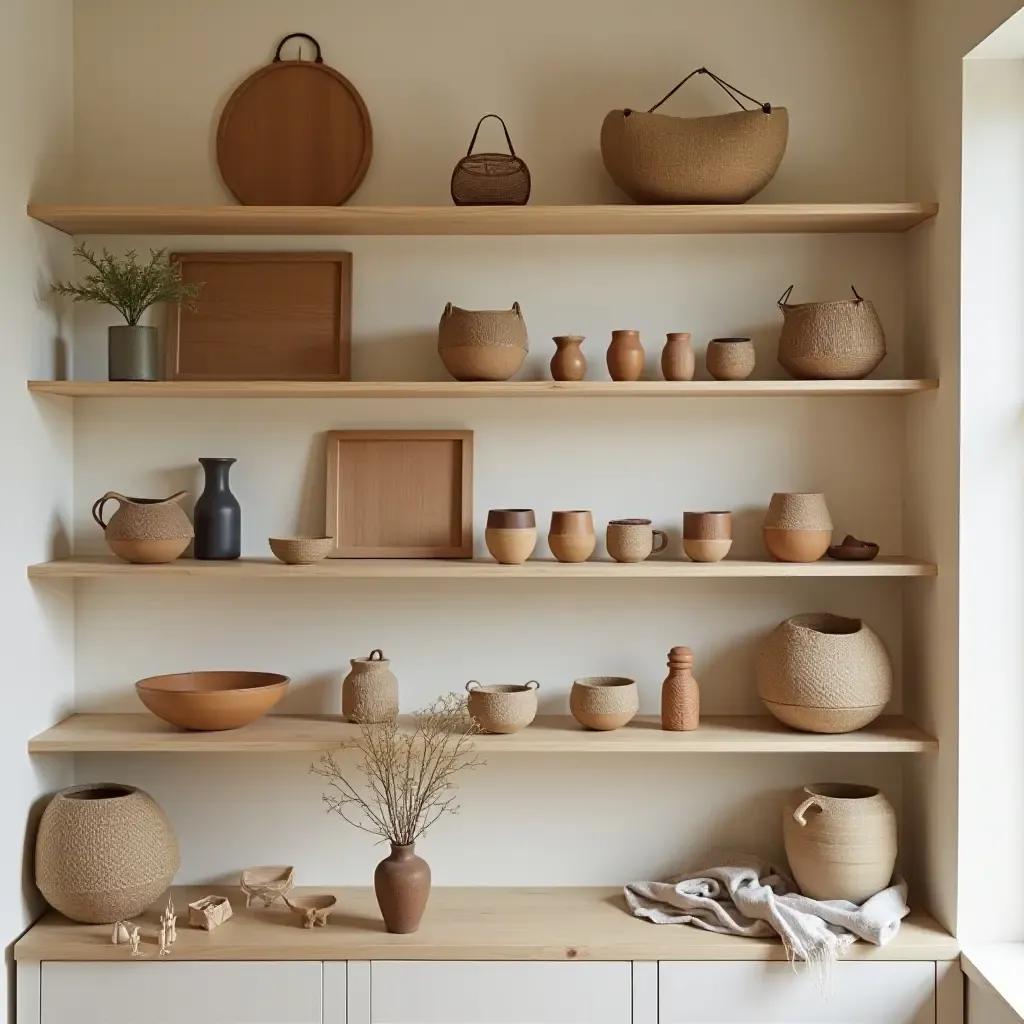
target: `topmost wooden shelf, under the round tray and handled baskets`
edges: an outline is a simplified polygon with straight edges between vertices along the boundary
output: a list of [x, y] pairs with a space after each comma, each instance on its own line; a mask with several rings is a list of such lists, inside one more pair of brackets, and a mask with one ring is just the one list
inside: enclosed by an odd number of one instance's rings
[[762, 234], [906, 231], [936, 203], [744, 206], [46, 206], [68, 234]]

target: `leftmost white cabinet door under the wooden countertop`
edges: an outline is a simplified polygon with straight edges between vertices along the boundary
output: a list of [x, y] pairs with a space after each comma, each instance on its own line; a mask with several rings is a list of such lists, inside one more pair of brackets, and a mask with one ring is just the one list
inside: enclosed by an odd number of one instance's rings
[[41, 1024], [321, 1024], [321, 986], [319, 962], [46, 963]]

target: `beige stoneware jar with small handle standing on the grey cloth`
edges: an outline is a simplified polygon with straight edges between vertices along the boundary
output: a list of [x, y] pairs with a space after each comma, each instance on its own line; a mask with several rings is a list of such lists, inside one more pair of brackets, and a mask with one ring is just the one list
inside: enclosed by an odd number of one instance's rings
[[782, 810], [785, 855], [811, 899], [864, 900], [889, 887], [896, 866], [896, 812], [870, 785], [821, 782]]

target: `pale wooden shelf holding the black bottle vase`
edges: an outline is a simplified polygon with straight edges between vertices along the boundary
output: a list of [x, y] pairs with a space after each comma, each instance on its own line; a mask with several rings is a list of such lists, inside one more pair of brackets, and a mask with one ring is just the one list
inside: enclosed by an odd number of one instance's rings
[[60, 558], [29, 566], [35, 580], [735, 580], [764, 578], [933, 577], [936, 566], [913, 558], [885, 557], [873, 562], [739, 561], [684, 562], [654, 559], [620, 564], [595, 560], [564, 564], [538, 559], [522, 565], [487, 560], [440, 558], [329, 558], [313, 565], [285, 565], [272, 558], [196, 561], [179, 558], [167, 565], [129, 565], [113, 556]]

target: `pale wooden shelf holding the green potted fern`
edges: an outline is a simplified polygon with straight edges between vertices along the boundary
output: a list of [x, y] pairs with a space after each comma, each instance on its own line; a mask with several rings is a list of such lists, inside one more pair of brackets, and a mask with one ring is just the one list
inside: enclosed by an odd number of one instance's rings
[[29, 381], [69, 398], [813, 398], [934, 391], [936, 380], [877, 381]]

